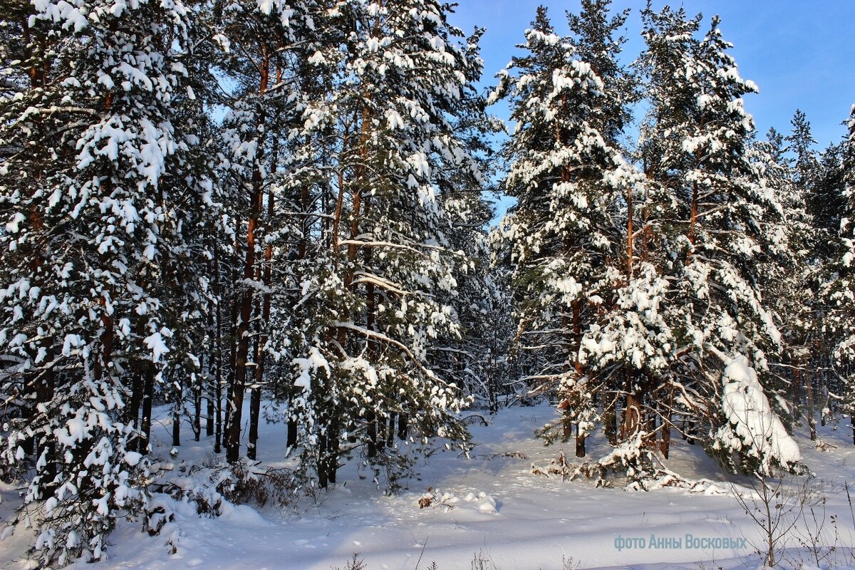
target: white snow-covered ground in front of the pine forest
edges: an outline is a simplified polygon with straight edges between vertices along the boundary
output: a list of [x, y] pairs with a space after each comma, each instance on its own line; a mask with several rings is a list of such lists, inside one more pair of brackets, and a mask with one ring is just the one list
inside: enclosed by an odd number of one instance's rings
[[[560, 449], [546, 448], [534, 437], [535, 429], [553, 414], [548, 406], [504, 409], [490, 426], [472, 426], [480, 443], [469, 458], [456, 450], [439, 450], [420, 460], [419, 476], [405, 480], [406, 490], [398, 496], [383, 496], [372, 482], [373, 473], [351, 461], [341, 469], [333, 491], [292, 508], [241, 505], [226, 508], [219, 518], [208, 518], [198, 516], [192, 504], [176, 503], [174, 523], [151, 538], [140, 532], [139, 521], [123, 521], [111, 536], [109, 558], [78, 566], [91, 570], [329, 570], [345, 568], [359, 553], [367, 570], [424, 570], [432, 562], [439, 570], [758, 567], [750, 545], [731, 547], [740, 544], [740, 538], [759, 543], [758, 528], [725, 492], [730, 486], [721, 470], [697, 446], [676, 440], [668, 467], [687, 478], [722, 482], [707, 485], [705, 493], [674, 488], [631, 492], [619, 485], [595, 489], [586, 479], [533, 475], [533, 462], [545, 465]], [[178, 455], [170, 458], [170, 448], [164, 447], [169, 441], [167, 420], [155, 426], [156, 455], [174, 462], [175, 476], [182, 462], [186, 466], [211, 455], [210, 442], [203, 438], [199, 444], [186, 441]], [[843, 490], [844, 482], [852, 488], [855, 478], [855, 446], [848, 426], [842, 424], [837, 430], [822, 428], [821, 436], [837, 447], [817, 450], [804, 433], [798, 434], [805, 462], [827, 489], [826, 536], [821, 542], [836, 547], [836, 561], [820, 566], [853, 567], [855, 520]], [[259, 443], [262, 461], [286, 464], [282, 426], [262, 426]], [[593, 457], [603, 455], [601, 445], [596, 441], [588, 445]], [[730, 480], [748, 484], [748, 479]], [[5, 519], [17, 499], [10, 487], [2, 491], [0, 516]], [[433, 504], [420, 508], [419, 499], [428, 493]], [[693, 544], [687, 543], [687, 534], [693, 536]], [[652, 548], [652, 537], [665, 548]], [[21, 529], [0, 543], [0, 561], [5, 561], [0, 567], [26, 567], [21, 558], [30, 538]], [[174, 553], [167, 544], [170, 538]], [[714, 541], [716, 545], [731, 545], [703, 548], [708, 545], [700, 543], [716, 538], [725, 539]], [[674, 548], [675, 539], [679, 548]], [[795, 541], [793, 534], [793, 546]], [[805, 551], [802, 554], [805, 562], [811, 561]], [[797, 555], [796, 549], [785, 553], [788, 566], [795, 566]]]

